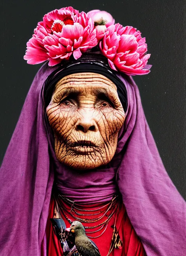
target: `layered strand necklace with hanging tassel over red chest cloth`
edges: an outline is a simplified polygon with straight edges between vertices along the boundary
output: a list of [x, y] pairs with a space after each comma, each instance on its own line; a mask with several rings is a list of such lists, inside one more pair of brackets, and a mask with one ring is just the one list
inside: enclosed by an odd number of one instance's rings
[[122, 201], [118, 195], [113, 195], [111, 200], [104, 203], [88, 205], [88, 209], [85, 209], [85, 205], [82, 206], [75, 203], [59, 193], [54, 193], [54, 200], [58, 216], [61, 219], [61, 216], [64, 216], [70, 224], [74, 220], [80, 221], [90, 239], [100, 237], [106, 231], [109, 221], [114, 216], [112, 241], [107, 256], [110, 255], [114, 248], [122, 247], [122, 241], [116, 228], [117, 213], [120, 210]]

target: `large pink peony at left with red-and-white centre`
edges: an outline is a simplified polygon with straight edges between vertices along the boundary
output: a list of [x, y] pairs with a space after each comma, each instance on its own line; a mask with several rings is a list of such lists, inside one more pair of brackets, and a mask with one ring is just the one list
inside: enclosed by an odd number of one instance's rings
[[92, 19], [85, 12], [65, 7], [44, 15], [27, 43], [24, 59], [28, 64], [49, 60], [48, 65], [54, 66], [62, 59], [68, 60], [72, 54], [78, 59], [97, 44]]

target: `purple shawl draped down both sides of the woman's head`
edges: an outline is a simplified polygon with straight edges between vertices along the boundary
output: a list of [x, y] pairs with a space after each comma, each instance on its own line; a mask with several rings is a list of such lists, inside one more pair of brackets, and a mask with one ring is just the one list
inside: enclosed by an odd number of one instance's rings
[[[2, 256], [41, 255], [54, 171], [67, 168], [52, 151], [44, 119], [43, 83], [54, 69], [44, 64], [35, 76], [1, 166]], [[147, 256], [185, 256], [186, 203], [163, 166], [137, 85], [131, 76], [118, 76], [128, 92], [128, 109], [115, 154], [121, 160], [115, 179], [126, 211]]]

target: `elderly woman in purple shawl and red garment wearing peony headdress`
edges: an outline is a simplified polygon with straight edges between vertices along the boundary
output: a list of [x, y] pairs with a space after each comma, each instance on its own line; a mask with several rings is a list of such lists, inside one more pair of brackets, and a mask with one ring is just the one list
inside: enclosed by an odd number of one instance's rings
[[0, 255], [79, 255], [55, 219], [80, 221], [102, 256], [185, 255], [185, 201], [131, 76], [150, 72], [146, 51], [140, 31], [99, 10], [38, 23], [25, 59], [48, 61], [1, 167]]

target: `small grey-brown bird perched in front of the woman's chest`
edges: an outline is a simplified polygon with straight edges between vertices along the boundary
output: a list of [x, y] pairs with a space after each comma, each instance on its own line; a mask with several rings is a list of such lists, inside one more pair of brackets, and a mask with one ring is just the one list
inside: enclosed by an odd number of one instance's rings
[[81, 256], [101, 256], [97, 245], [85, 234], [85, 228], [80, 221], [73, 221], [67, 229], [75, 236], [75, 245]]

